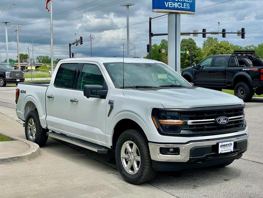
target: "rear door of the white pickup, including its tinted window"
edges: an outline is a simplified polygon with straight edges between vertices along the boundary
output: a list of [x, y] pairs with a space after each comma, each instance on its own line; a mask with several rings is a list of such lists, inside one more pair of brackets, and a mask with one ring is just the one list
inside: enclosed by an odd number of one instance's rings
[[47, 126], [55, 132], [67, 134], [69, 131], [69, 97], [76, 84], [78, 67], [78, 63], [61, 64], [54, 84], [47, 88]]

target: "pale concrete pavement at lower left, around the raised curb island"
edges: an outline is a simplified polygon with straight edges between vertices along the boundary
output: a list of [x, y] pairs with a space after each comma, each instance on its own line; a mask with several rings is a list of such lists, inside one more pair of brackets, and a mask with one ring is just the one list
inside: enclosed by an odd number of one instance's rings
[[[22, 124], [0, 114], [0, 130], [25, 138]], [[0, 151], [1, 152], [1, 151]], [[0, 197], [173, 197], [127, 183], [119, 171], [51, 138], [41, 156], [0, 166]]]

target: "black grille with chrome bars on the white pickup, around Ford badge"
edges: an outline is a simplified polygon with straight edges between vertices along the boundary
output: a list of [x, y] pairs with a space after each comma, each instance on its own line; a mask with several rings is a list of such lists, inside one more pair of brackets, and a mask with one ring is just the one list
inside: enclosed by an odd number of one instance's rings
[[[245, 128], [245, 106], [220, 106], [209, 108], [193, 108], [180, 112], [182, 125], [181, 134], [189, 136], [208, 136], [236, 132]], [[219, 125], [216, 120], [220, 117], [229, 118], [227, 124]]]

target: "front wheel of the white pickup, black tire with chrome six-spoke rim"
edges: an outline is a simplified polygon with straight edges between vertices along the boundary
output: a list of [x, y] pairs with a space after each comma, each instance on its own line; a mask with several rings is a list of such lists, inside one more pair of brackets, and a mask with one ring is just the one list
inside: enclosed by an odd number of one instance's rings
[[129, 183], [142, 184], [156, 175], [152, 167], [148, 141], [140, 130], [126, 130], [120, 135], [115, 158], [121, 176]]

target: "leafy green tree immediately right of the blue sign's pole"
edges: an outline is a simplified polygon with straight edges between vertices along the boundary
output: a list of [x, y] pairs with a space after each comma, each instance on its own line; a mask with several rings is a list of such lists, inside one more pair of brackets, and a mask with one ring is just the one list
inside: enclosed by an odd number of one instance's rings
[[181, 69], [190, 66], [190, 49], [192, 47], [192, 63], [200, 62], [202, 60], [201, 57], [201, 48], [197, 47], [194, 39], [182, 39], [181, 41], [181, 51], [189, 51], [189, 54], [181, 54]]

